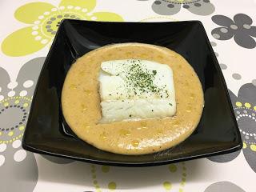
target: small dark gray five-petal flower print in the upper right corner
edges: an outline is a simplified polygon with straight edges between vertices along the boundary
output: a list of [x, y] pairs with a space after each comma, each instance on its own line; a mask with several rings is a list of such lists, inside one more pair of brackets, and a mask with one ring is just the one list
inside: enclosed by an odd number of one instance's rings
[[247, 49], [256, 47], [256, 26], [252, 26], [253, 20], [246, 14], [234, 15], [234, 21], [225, 15], [214, 15], [213, 22], [221, 27], [211, 31], [214, 38], [218, 40], [229, 40], [234, 38], [234, 41]]

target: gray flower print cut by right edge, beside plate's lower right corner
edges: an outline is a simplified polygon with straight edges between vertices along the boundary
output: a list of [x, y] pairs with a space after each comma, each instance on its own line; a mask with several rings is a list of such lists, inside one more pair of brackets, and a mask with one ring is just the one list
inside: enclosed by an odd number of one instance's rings
[[[243, 85], [238, 96], [229, 91], [243, 141], [243, 154], [250, 168], [256, 172], [256, 86], [253, 83]], [[210, 157], [213, 162], [230, 162], [238, 157], [240, 151], [231, 154]]]

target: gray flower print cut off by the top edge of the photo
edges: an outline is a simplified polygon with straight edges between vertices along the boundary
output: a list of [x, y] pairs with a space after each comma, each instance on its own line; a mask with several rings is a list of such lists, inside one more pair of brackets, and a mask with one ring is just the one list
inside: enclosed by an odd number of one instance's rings
[[215, 10], [210, 0], [155, 0], [152, 4], [152, 10], [161, 15], [177, 14], [182, 8], [198, 15], [209, 15]]

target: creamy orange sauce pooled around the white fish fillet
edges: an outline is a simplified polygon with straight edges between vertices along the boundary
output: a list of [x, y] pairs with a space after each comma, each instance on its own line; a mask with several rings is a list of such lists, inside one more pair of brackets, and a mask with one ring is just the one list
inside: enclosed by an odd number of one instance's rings
[[[177, 111], [172, 118], [98, 123], [101, 62], [140, 58], [169, 65], [174, 73]], [[123, 43], [93, 50], [71, 66], [62, 89], [62, 111], [82, 140], [117, 154], [149, 154], [177, 145], [192, 134], [203, 109], [202, 86], [185, 58], [160, 46]]]

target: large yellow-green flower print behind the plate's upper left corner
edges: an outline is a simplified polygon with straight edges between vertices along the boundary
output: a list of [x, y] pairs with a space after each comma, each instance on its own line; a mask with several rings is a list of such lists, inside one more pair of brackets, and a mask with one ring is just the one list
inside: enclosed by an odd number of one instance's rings
[[96, 0], [62, 0], [58, 7], [47, 2], [31, 2], [18, 8], [14, 17], [31, 26], [15, 31], [2, 42], [2, 52], [18, 57], [41, 50], [52, 41], [63, 18], [122, 22], [120, 15], [94, 12]]

